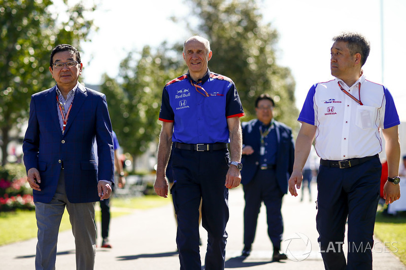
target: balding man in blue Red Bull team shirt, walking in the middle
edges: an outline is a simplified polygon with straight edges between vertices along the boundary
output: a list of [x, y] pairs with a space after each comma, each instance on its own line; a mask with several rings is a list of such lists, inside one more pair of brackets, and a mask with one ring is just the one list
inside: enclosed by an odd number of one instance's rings
[[200, 199], [202, 225], [208, 232], [205, 267], [224, 269], [227, 188], [241, 181], [239, 118], [244, 110], [234, 83], [208, 69], [211, 57], [210, 43], [205, 38], [192, 36], [185, 41], [183, 59], [189, 70], [165, 85], [159, 112], [162, 130], [154, 188], [157, 195], [167, 197], [165, 169], [174, 142], [175, 181], [171, 194], [178, 219], [176, 242], [181, 270], [201, 269]]

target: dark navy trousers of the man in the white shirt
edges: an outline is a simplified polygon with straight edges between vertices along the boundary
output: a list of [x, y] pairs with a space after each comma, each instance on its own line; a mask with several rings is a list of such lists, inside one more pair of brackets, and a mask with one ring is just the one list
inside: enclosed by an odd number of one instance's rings
[[[320, 165], [316, 223], [325, 269], [372, 269], [381, 170], [378, 157], [346, 169]], [[343, 243], [347, 218], [346, 262]]]

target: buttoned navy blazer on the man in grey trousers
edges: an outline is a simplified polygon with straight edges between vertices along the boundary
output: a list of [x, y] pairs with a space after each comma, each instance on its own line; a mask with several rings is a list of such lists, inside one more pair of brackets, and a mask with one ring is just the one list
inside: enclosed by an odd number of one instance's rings
[[[99, 201], [98, 180], [114, 183], [112, 126], [106, 96], [79, 84], [64, 134], [57, 109], [56, 86], [31, 96], [23, 152], [26, 171], [37, 168], [40, 172], [41, 191], [33, 190], [34, 201], [52, 200], [61, 163], [67, 199], [71, 203]], [[95, 138], [99, 166], [93, 151]]]

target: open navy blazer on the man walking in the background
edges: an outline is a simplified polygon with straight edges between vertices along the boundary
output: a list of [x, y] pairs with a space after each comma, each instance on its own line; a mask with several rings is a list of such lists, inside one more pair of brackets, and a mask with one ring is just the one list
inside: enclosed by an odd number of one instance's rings
[[[294, 161], [294, 142], [292, 137], [292, 129], [283, 123], [274, 121], [276, 134], [278, 139], [278, 149], [276, 158], [276, 178], [279, 187], [283, 194], [288, 192], [288, 180], [293, 171]], [[248, 184], [255, 173], [259, 169], [259, 148], [261, 146], [261, 134], [259, 127], [261, 122], [258, 119], [253, 119], [249, 122], [242, 123], [243, 129], [243, 144], [250, 145], [254, 152], [252, 155], [243, 155], [241, 163], [243, 170], [241, 171], [241, 183]]]

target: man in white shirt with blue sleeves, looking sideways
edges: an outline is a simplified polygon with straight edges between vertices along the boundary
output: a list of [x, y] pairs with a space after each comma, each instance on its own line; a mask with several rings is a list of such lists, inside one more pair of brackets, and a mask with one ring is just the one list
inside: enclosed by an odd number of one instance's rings
[[[389, 177], [386, 203], [400, 198], [399, 117], [387, 88], [365, 80], [361, 67], [369, 42], [358, 33], [333, 38], [330, 68], [335, 80], [314, 85], [298, 121], [295, 162], [289, 191], [297, 196], [311, 144], [321, 158], [317, 177], [317, 230], [326, 269], [372, 269], [375, 216], [386, 141]], [[348, 218], [348, 256], [343, 252]]]

